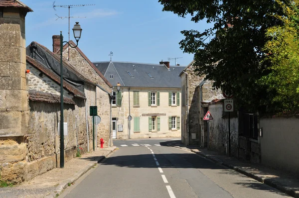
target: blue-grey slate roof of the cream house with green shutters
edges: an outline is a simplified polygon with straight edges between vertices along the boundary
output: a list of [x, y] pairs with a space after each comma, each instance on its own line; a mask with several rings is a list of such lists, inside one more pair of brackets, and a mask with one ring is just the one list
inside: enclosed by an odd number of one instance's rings
[[[115, 61], [93, 64], [113, 86], [120, 83], [124, 87], [181, 88], [179, 74], [184, 67], [170, 66], [168, 70], [164, 64]], [[113, 78], [110, 78], [110, 75], [113, 75]]]

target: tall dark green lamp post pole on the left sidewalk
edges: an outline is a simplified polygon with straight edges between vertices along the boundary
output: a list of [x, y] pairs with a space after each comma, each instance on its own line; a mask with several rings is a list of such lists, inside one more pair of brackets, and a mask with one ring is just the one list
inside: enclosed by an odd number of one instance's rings
[[60, 31], [60, 168], [64, 167], [62, 43], [63, 36], [62, 31]]

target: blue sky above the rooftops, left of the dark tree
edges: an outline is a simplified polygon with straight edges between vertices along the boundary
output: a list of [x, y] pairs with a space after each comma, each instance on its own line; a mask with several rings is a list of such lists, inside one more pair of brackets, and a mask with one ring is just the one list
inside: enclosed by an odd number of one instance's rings
[[[22, 0], [33, 9], [26, 16], [26, 45], [36, 41], [52, 50], [52, 35], [62, 34], [68, 40], [68, 8], [56, 7], [54, 0]], [[172, 12], [163, 12], [158, 0], [56, 0], [55, 5], [95, 4], [71, 8], [70, 29], [76, 21], [83, 29], [79, 48], [91, 61], [158, 63], [168, 58], [183, 57], [177, 63], [183, 66], [193, 60], [179, 48], [184, 37], [181, 30], [203, 31], [211, 25], [205, 21], [194, 23], [190, 17], [181, 18]], [[56, 20], [57, 19], [57, 20]], [[74, 40], [72, 30], [70, 39]], [[174, 60], [170, 60], [174, 65]]]

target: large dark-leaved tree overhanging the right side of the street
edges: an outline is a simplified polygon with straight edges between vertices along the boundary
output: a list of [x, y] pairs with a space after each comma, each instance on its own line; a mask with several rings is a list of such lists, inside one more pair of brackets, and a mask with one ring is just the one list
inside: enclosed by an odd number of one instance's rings
[[[268, 28], [282, 24], [274, 14], [283, 14], [275, 0], [159, 0], [163, 11], [195, 23], [206, 19], [213, 27], [204, 32], [184, 30], [181, 49], [194, 53], [199, 75], [214, 81], [213, 86], [231, 92], [247, 110], [271, 110], [275, 93], [257, 81], [269, 73], [264, 46]], [[207, 40], [209, 38], [209, 41]]]

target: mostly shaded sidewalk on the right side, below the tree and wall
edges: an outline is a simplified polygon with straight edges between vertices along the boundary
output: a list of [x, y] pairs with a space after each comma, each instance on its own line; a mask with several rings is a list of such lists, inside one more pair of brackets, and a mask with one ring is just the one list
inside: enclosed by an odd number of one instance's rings
[[249, 163], [227, 155], [220, 155], [217, 152], [202, 147], [184, 146], [182, 144], [169, 144], [169, 146], [199, 154], [259, 182], [276, 188], [292, 197], [299, 198], [299, 176], [281, 170], [271, 169], [261, 164]]

